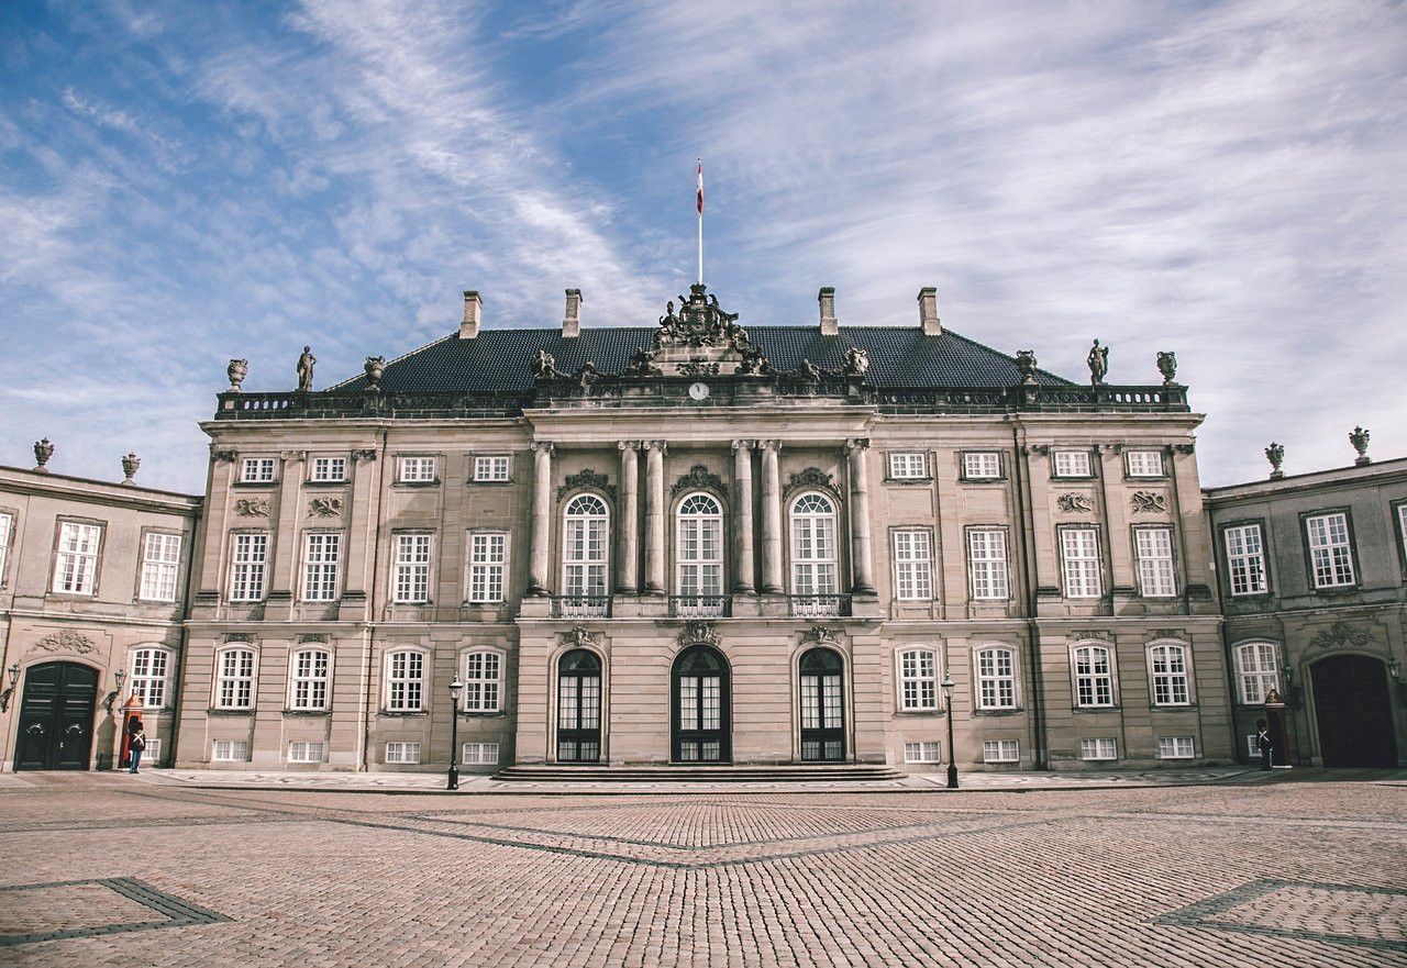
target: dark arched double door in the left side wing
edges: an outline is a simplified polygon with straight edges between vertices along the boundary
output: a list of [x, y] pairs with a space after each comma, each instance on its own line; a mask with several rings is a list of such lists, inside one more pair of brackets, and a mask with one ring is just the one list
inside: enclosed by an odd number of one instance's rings
[[24, 674], [15, 770], [87, 770], [97, 670], [44, 663]]

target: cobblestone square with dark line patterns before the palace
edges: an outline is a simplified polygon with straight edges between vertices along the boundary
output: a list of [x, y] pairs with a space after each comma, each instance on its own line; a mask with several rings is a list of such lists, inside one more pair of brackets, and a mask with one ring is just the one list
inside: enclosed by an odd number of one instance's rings
[[606, 798], [51, 777], [0, 789], [0, 964], [1407, 967], [1393, 779]]

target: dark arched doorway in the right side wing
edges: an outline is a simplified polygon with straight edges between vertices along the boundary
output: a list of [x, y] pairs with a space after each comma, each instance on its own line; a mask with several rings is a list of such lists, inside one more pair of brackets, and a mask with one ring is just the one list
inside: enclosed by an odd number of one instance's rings
[[1370, 656], [1314, 663], [1314, 712], [1325, 767], [1396, 767], [1387, 671]]

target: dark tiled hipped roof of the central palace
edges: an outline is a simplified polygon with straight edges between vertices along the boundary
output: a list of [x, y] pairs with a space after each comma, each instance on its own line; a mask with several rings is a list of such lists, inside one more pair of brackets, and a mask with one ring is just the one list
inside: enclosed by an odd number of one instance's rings
[[[749, 326], [749, 338], [775, 370], [795, 370], [803, 359], [822, 369], [839, 369], [846, 350], [857, 346], [870, 355], [865, 383], [881, 390], [999, 388], [1021, 381], [1016, 360], [955, 332], [924, 336], [917, 326], [841, 326], [839, 336], [822, 336], [816, 326]], [[515, 393], [532, 387], [532, 360], [545, 349], [563, 373], [582, 363], [601, 373], [619, 373], [637, 349], [654, 345], [654, 326], [582, 329], [563, 339], [560, 329], [481, 329], [476, 339], [457, 333], [393, 360], [381, 378], [391, 393]], [[1037, 370], [1045, 387], [1068, 387]], [[335, 388], [360, 390], [366, 377]]]

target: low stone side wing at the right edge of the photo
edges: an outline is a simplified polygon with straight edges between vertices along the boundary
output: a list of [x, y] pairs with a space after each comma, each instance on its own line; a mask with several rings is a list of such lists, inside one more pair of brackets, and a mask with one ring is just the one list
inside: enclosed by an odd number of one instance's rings
[[1273, 722], [1275, 688], [1278, 761], [1407, 764], [1407, 460], [1290, 477], [1273, 463], [1268, 481], [1207, 491], [1238, 753]]

